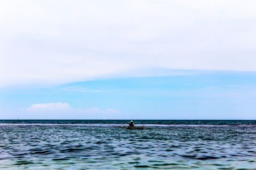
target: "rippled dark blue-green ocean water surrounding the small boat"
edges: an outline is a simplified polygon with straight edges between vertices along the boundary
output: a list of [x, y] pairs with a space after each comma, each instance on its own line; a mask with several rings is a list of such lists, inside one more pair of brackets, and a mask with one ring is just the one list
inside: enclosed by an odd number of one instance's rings
[[0, 169], [256, 169], [255, 120], [0, 120]]

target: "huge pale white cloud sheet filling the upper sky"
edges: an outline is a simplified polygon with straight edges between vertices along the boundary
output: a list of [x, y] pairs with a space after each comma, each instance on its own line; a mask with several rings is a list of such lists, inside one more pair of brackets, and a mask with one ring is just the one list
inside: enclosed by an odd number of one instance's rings
[[145, 67], [256, 71], [255, 5], [3, 0], [0, 87], [90, 80]]

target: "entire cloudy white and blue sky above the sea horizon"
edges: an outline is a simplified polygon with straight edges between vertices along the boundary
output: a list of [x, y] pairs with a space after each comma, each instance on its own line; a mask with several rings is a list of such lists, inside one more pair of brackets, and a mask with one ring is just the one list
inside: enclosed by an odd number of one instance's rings
[[0, 1], [0, 119], [255, 119], [255, 1]]

